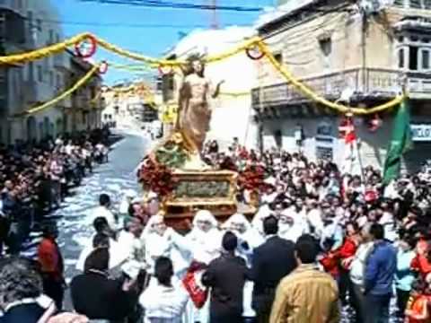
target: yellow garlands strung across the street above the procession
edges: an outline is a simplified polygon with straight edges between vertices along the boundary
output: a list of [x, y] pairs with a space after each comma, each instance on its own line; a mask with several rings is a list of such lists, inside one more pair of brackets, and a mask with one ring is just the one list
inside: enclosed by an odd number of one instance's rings
[[[91, 48], [87, 53], [84, 53], [81, 47], [79, 46], [82, 42], [87, 42], [90, 44]], [[75, 37], [72, 37], [70, 39], [66, 39], [63, 42], [50, 45], [46, 48], [40, 48], [36, 50], [32, 50], [27, 53], [22, 54], [13, 54], [10, 56], [4, 56], [0, 57], [0, 65], [13, 65], [13, 64], [23, 64], [28, 63], [37, 59], [41, 59], [44, 57], [48, 57], [54, 54], [58, 54], [61, 51], [65, 50], [66, 48], [69, 48], [71, 46], [75, 46], [75, 48], [80, 48], [78, 50], [78, 54], [82, 57], [89, 57], [89, 55], [93, 55], [96, 52], [97, 45], [101, 46], [101, 48], [105, 48], [107, 50], [110, 50], [113, 53], [118, 54], [119, 56], [128, 57], [137, 61], [141, 61], [147, 65], [150, 66], [157, 66], [159, 70], [163, 67], [167, 68], [173, 68], [174, 66], [180, 66], [187, 64], [184, 60], [168, 60], [168, 59], [157, 59], [152, 57], [145, 57], [143, 55], [128, 51], [127, 49], [120, 48], [116, 45], [110, 44], [110, 42], [98, 38], [91, 33], [82, 33], [79, 35], [76, 35]], [[397, 96], [395, 99], [388, 101], [384, 104], [378, 105], [376, 107], [365, 109], [365, 108], [354, 108], [349, 107], [343, 104], [339, 104], [337, 102], [332, 102], [330, 100], [326, 100], [325, 98], [321, 97], [317, 93], [313, 92], [312, 89], [307, 87], [305, 84], [301, 83], [298, 79], [295, 78], [293, 74], [286, 68], [285, 65], [282, 65], [277, 62], [277, 59], [272, 55], [270, 49], [268, 46], [263, 42], [262, 39], [259, 39], [259, 37], [255, 37], [252, 39], [249, 39], [245, 41], [242, 45], [232, 48], [229, 51], [226, 51], [224, 53], [221, 53], [216, 56], [212, 57], [206, 57], [204, 59], [205, 63], [213, 63], [219, 60], [223, 60], [228, 57], [232, 57], [233, 55], [236, 55], [242, 51], [245, 51], [248, 57], [251, 57], [251, 59], [260, 59], [262, 57], [267, 57], [268, 61], [277, 69], [277, 71], [286, 79], [287, 82], [292, 83], [297, 90], [300, 92], [303, 92], [305, 96], [310, 98], [311, 100], [314, 100], [315, 102], [321, 103], [322, 105], [330, 108], [335, 109], [339, 111], [340, 113], [347, 113], [350, 112], [355, 115], [369, 115], [369, 114], [376, 114], [379, 112], [383, 112], [386, 109], [391, 109], [397, 105], [400, 104], [402, 100], [405, 99], [406, 94]], [[260, 52], [259, 52], [260, 51]], [[104, 72], [106, 72], [108, 65], [103, 67]], [[94, 74], [96, 71], [100, 71], [101, 65], [97, 65], [97, 67], [93, 67], [92, 71]], [[90, 78], [91, 75], [88, 77]], [[86, 81], [86, 80], [85, 80]], [[81, 86], [81, 85], [80, 85]], [[78, 86], [79, 87], [79, 86]], [[75, 86], [72, 88], [74, 89]], [[71, 90], [71, 89], [69, 89]], [[75, 89], [76, 90], [76, 89]], [[74, 91], [75, 91], [74, 90]], [[72, 91], [73, 92], [73, 91]], [[62, 93], [59, 97], [57, 97], [54, 100], [63, 100], [68, 95], [69, 91], [66, 91]], [[66, 94], [66, 95], [65, 95]], [[231, 93], [232, 94], [232, 93]], [[245, 95], [245, 94], [243, 94]], [[59, 99], [61, 98], [61, 99]], [[56, 101], [56, 103], [57, 103]], [[42, 109], [46, 109], [46, 105], [49, 103], [49, 101], [41, 106]], [[55, 104], [55, 103], [54, 103]], [[50, 106], [52, 104], [48, 104]], [[28, 111], [31, 111], [30, 113], [34, 113], [34, 111], [39, 111], [40, 107], [29, 109]]]

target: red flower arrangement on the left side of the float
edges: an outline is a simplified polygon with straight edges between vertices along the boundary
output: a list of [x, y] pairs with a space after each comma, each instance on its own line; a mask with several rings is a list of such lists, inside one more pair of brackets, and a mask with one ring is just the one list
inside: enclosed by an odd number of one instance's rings
[[175, 188], [172, 170], [162, 163], [154, 161], [150, 156], [145, 157], [137, 172], [137, 177], [145, 190], [152, 190], [159, 196], [167, 196]]

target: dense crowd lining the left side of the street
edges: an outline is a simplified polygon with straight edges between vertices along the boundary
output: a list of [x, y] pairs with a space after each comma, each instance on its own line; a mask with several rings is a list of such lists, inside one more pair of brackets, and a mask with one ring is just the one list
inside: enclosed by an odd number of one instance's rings
[[108, 140], [109, 130], [97, 129], [39, 144], [0, 145], [0, 254], [20, 252], [43, 216], [92, 172], [93, 162], [104, 162]]

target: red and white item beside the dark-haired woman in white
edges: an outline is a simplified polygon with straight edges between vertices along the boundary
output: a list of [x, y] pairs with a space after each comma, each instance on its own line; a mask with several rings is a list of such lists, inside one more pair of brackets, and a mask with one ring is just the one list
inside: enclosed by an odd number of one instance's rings
[[198, 279], [198, 277], [203, 274], [204, 269], [205, 265], [194, 261], [189, 266], [186, 275], [182, 279], [182, 284], [186, 291], [189, 292], [191, 301], [193, 301], [193, 304], [195, 304], [197, 309], [202, 309], [208, 298], [207, 288], [202, 286]]

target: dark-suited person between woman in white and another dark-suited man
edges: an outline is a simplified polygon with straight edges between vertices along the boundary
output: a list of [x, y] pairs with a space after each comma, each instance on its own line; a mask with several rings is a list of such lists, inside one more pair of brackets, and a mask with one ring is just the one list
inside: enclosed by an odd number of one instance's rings
[[222, 256], [208, 265], [202, 283], [211, 287], [210, 323], [241, 323], [242, 293], [249, 277], [245, 260], [235, 256], [238, 239], [232, 232], [224, 233]]

